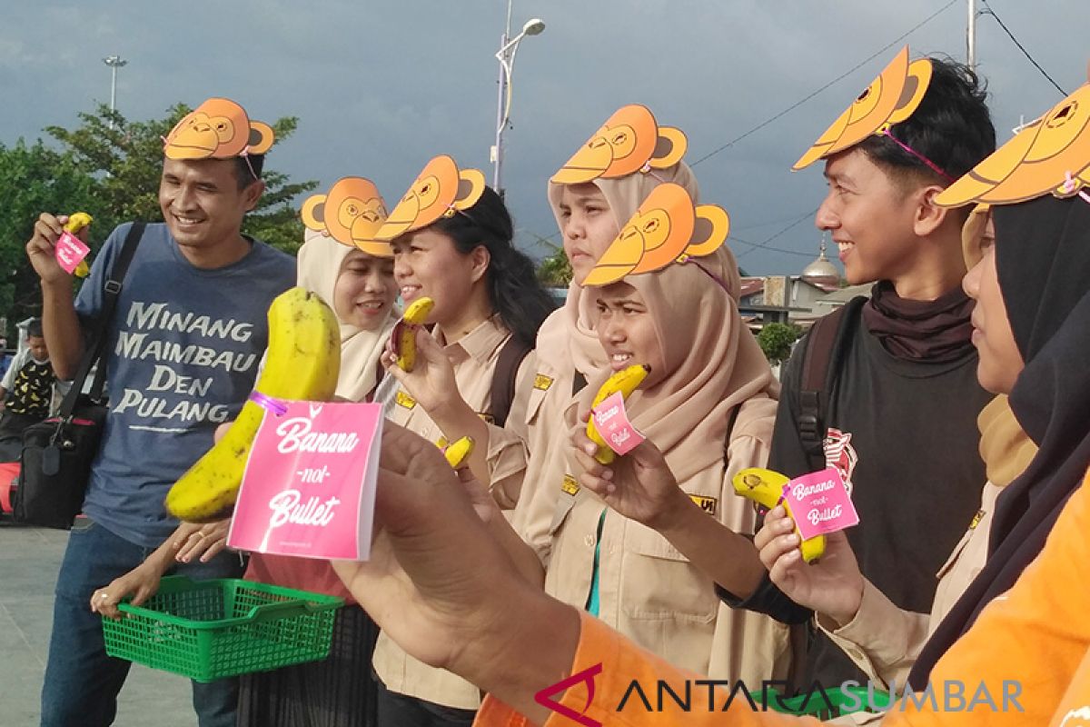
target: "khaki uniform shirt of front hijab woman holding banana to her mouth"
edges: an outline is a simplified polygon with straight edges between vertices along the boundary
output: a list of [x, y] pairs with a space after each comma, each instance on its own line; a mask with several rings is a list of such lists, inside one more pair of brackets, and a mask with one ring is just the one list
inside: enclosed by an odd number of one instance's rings
[[[753, 532], [755, 512], [748, 500], [734, 494], [730, 478], [741, 469], [764, 465], [775, 410], [776, 402], [771, 399], [748, 402], [739, 420], [761, 422], [754, 429], [762, 433], [749, 434], [744, 431], [748, 427], [736, 427], [729, 464], [717, 461], [679, 484], [708, 517], [735, 532]], [[559, 440], [564, 444], [566, 437]], [[564, 461], [557, 457], [550, 460], [554, 469]], [[579, 486], [574, 473], [552, 471], [535, 481], [528, 477], [512, 524], [545, 565], [545, 590], [578, 608], [586, 606], [594, 552], [601, 546], [598, 617], [671, 664], [748, 683], [786, 675], [790, 657], [787, 627], [723, 605], [712, 579], [669, 541], [610, 510]]]

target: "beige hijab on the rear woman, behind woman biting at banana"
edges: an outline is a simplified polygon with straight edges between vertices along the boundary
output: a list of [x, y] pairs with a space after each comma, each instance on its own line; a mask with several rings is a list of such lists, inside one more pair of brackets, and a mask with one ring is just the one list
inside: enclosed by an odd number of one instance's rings
[[[697, 178], [689, 165], [679, 161], [667, 169], [649, 173], [637, 172], [619, 179], [596, 179], [594, 184], [602, 190], [609, 210], [617, 220], [617, 229], [625, 227], [629, 218], [635, 214], [651, 191], [664, 182], [675, 182], [683, 186], [693, 202], [698, 201], [700, 190]], [[560, 193], [562, 184], [548, 183], [548, 203], [560, 225]], [[737, 266], [736, 266], [737, 268]], [[735, 272], [737, 277], [737, 271]], [[598, 343], [594, 332], [594, 299], [588, 300], [583, 287], [574, 280], [568, 286], [568, 300], [564, 307], [548, 317], [537, 331], [537, 362], [552, 367], [553, 371], [566, 371], [572, 363], [576, 371], [584, 376], [593, 376], [606, 368], [606, 354]]]

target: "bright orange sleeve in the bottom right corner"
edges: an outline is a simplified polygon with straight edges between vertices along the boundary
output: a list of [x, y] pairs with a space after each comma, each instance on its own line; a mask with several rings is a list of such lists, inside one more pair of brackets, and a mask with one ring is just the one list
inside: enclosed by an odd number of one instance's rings
[[[1080, 696], [1085, 704], [1090, 699], [1088, 684], [1074, 683], [1078, 673], [1086, 676], [1083, 659], [1090, 644], [1088, 483], [1090, 477], [1071, 496], [1041, 555], [1017, 584], [989, 604], [972, 629], [935, 665], [931, 688], [938, 711], [920, 712], [909, 704], [904, 712], [892, 713], [883, 725], [1045, 725], [1062, 700], [1073, 704], [1070, 700]], [[964, 684], [965, 702], [947, 702], [943, 710], [942, 690], [957, 683]], [[995, 702], [994, 708], [982, 702], [968, 708], [982, 687]], [[1004, 689], [1017, 691], [1006, 704]]]

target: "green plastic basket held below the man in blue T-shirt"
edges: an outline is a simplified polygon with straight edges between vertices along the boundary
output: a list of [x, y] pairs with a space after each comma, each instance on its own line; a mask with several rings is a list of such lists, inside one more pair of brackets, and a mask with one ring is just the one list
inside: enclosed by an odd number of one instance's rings
[[314, 662], [329, 655], [343, 601], [241, 579], [162, 579], [142, 606], [122, 603], [102, 618], [106, 653], [213, 681]]

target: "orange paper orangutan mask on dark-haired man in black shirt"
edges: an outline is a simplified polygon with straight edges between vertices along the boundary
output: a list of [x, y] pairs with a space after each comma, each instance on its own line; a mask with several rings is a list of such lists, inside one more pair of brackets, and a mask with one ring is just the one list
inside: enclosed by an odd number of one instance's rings
[[908, 119], [920, 106], [930, 83], [931, 61], [923, 58], [909, 63], [905, 46], [791, 169], [809, 167]]

